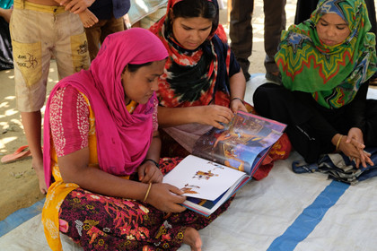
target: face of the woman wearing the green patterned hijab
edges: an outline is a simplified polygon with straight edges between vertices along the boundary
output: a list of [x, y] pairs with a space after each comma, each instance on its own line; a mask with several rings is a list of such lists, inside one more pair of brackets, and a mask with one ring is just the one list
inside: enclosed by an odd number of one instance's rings
[[327, 46], [343, 43], [351, 33], [346, 21], [336, 13], [324, 14], [317, 23], [316, 29], [320, 41]]

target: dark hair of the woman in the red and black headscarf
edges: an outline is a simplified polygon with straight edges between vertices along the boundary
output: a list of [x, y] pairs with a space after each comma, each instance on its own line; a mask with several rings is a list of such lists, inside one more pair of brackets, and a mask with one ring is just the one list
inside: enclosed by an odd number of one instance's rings
[[[215, 0], [217, 1], [217, 0]], [[212, 21], [211, 33], [217, 29], [219, 13], [213, 2], [208, 0], [182, 0], [172, 7], [174, 18], [202, 17]]]

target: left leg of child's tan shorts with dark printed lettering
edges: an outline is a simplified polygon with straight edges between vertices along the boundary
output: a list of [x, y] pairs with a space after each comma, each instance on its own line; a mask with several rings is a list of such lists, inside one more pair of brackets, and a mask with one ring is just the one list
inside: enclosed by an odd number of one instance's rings
[[38, 111], [46, 99], [52, 47], [52, 36], [46, 30], [52, 29], [48, 27], [50, 22], [46, 13], [16, 7], [13, 10], [10, 31], [15, 94], [22, 112]]

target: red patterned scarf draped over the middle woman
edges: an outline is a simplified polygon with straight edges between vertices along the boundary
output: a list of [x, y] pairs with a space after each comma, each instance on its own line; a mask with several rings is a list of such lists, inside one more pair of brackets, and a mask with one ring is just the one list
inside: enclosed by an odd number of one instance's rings
[[[166, 22], [170, 22], [169, 13], [171, 12], [172, 7], [180, 1], [181, 0], [170, 0], [166, 14], [162, 17], [162, 19], [160, 19], [159, 22], [154, 23], [153, 26], [149, 28], [149, 30], [151, 30], [162, 40], [162, 43], [169, 52], [169, 58], [165, 64], [164, 74], [162, 74], [159, 79], [159, 91], [157, 92], [157, 96], [159, 98], [160, 105], [169, 108], [194, 107], [208, 105], [212, 101], [216, 105], [229, 107], [229, 93], [227, 91], [224, 91], [224, 89], [226, 88], [221, 88], [222, 83], [218, 83], [217, 78], [220, 69], [222, 69], [222, 65], [220, 64], [226, 64], [224, 71], [226, 70], [227, 74], [229, 74], [231, 49], [227, 45], [227, 38], [224, 28], [218, 23], [215, 23], [215, 30], [213, 30], [207, 38], [207, 40], [209, 41], [208, 49], [212, 51], [214, 59], [207, 65], [208, 70], [206, 70], [206, 74], [203, 74], [203, 76], [201, 76], [201, 78], [206, 79], [207, 82], [210, 83], [210, 87], [206, 91], [201, 90], [200, 93], [197, 94], [196, 100], [189, 101], [182, 99], [182, 93], [178, 93], [176, 90], [174, 90], [174, 88], [171, 88], [169, 78], [171, 78], [172, 75], [177, 74], [176, 72], [171, 72], [171, 66], [173, 65], [173, 63], [180, 66], [188, 66], [189, 69], [189, 67], [195, 67], [197, 65], [198, 61], [201, 59], [204, 53], [202, 47], [197, 48], [197, 50], [195, 51], [188, 52], [180, 47], [180, 44], [174, 39], [173, 36], [169, 34], [169, 32], [168, 34], [164, 34], [166, 29], [168, 29]], [[208, 0], [208, 2], [214, 3], [218, 11], [218, 5], [216, 1]], [[217, 37], [224, 44], [226, 44], [224, 48], [226, 48], [227, 50], [227, 57], [225, 58], [224, 62], [218, 62], [218, 54], [221, 52], [215, 50], [215, 46], [213, 44], [213, 41], [211, 40], [215, 35], [217, 35]], [[180, 86], [180, 88], [182, 88], [182, 86]], [[189, 89], [187, 91], [191, 90]], [[185, 93], [187, 91], [182, 92]]]

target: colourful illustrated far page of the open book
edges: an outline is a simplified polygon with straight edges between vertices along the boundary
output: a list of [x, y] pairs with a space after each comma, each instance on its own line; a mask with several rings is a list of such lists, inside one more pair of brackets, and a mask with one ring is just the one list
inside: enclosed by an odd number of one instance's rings
[[238, 112], [227, 128], [202, 135], [193, 154], [252, 174], [284, 130], [285, 124]]

